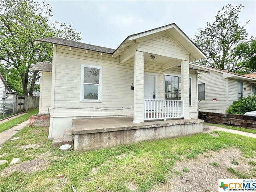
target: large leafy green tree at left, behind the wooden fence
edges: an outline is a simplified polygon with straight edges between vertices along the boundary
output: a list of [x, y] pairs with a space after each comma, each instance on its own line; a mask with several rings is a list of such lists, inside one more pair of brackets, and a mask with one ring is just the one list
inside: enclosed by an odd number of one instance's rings
[[[36, 62], [52, 62], [52, 45], [34, 44], [34, 38], [60, 37], [81, 40], [66, 24], [51, 22], [52, 8], [33, 0], [0, 0], [0, 61], [2, 68], [16, 72], [24, 95], [32, 95], [40, 76], [30, 70]], [[28, 90], [28, 87], [30, 88]]]

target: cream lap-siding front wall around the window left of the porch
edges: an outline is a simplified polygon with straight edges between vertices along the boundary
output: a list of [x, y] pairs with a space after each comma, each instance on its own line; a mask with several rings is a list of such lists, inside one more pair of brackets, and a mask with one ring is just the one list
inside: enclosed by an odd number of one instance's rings
[[[102, 102], [80, 102], [81, 64], [102, 66]], [[57, 46], [54, 113], [74, 116], [132, 115], [134, 62], [119, 63], [119, 58], [95, 52]], [[60, 109], [60, 107], [67, 109]], [[95, 107], [95, 108], [90, 108]], [[68, 109], [76, 108], [76, 109]]]

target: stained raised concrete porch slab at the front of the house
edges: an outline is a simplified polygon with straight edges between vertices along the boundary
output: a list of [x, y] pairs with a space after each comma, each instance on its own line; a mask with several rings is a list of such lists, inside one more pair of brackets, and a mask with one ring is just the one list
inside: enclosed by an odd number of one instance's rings
[[74, 150], [90, 151], [144, 140], [172, 138], [203, 131], [203, 120], [150, 121], [140, 124], [133, 117], [73, 119]]

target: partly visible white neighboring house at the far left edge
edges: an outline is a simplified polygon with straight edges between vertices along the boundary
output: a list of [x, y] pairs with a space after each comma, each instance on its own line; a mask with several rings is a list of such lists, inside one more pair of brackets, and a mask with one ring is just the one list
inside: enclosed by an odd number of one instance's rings
[[0, 114], [3, 114], [3, 106], [5, 106], [4, 113], [13, 113], [14, 112], [14, 95], [17, 92], [12, 90], [6, 79], [0, 72], [0, 98], [1, 98], [1, 106], [0, 106]]

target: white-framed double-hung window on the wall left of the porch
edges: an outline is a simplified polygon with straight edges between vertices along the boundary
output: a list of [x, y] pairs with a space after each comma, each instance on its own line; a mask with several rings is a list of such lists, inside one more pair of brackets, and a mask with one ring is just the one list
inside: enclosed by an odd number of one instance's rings
[[82, 64], [81, 98], [85, 102], [101, 102], [102, 67]]

